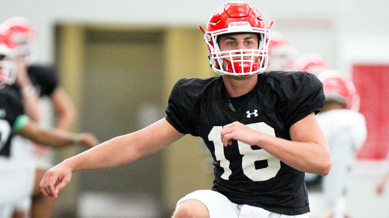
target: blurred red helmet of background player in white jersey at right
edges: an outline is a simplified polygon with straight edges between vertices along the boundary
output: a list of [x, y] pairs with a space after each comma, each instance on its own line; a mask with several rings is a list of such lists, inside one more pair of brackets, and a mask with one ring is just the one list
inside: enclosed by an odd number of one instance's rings
[[347, 109], [359, 110], [359, 95], [354, 83], [343, 76], [339, 71], [326, 70], [317, 76], [323, 83], [323, 90], [327, 100], [336, 100], [344, 103]]

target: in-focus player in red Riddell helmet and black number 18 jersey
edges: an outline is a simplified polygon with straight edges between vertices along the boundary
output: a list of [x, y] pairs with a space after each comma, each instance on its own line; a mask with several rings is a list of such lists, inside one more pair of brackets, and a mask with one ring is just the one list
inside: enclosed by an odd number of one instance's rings
[[191, 134], [212, 154], [213, 187], [179, 200], [174, 218], [307, 217], [304, 171], [326, 175], [332, 164], [315, 116], [325, 100], [321, 82], [303, 72], [264, 73], [270, 30], [246, 2], [223, 4], [203, 32], [219, 76], [178, 80], [165, 118], [54, 166], [40, 183], [46, 196], [57, 198], [74, 171], [129, 163]]

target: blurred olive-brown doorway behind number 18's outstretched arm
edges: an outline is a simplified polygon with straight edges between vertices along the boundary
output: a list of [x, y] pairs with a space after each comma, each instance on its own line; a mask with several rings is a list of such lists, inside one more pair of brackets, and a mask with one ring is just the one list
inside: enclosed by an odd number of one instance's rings
[[[66, 59], [67, 56], [79, 55], [78, 58], [72, 57], [72, 62], [62, 60], [66, 62], [62, 66], [58, 60], [60, 69], [65, 69], [61, 75], [63, 82], [70, 83], [68, 87], [78, 86], [74, 88], [77, 90], [70, 91], [75, 93], [73, 99], [78, 113], [75, 131], [93, 132], [103, 142], [134, 132], [164, 116], [164, 102], [160, 97], [164, 73], [163, 31], [58, 25], [56, 33], [57, 56]], [[75, 45], [77, 41], [80, 45]], [[69, 50], [71, 55], [61, 53], [64, 50]], [[75, 65], [74, 69], [69, 63]], [[65, 75], [65, 71], [70, 73]], [[64, 156], [72, 155], [68, 152]], [[161, 176], [161, 152], [112, 169], [85, 171], [75, 175], [72, 182], [77, 187], [69, 190], [72, 193], [62, 205], [67, 205], [68, 209], [78, 207], [77, 216], [89, 218], [102, 207], [89, 202], [91, 199], [97, 202], [116, 199], [117, 204], [122, 202], [123, 205], [112, 206], [113, 211], [108, 214], [115, 216], [118, 208], [124, 205], [128, 208], [133, 199], [137, 201], [138, 212], [141, 203], [148, 207], [145, 212], [152, 211], [156, 215], [162, 204]], [[140, 199], [144, 202], [139, 202]], [[122, 213], [131, 217], [128, 211]], [[136, 216], [141, 217], [139, 213]], [[145, 216], [151, 217], [150, 214]]]

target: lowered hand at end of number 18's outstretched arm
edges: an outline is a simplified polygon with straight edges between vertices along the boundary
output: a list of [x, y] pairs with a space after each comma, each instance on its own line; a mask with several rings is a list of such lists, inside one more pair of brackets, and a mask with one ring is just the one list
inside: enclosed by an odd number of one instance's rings
[[71, 180], [71, 167], [62, 162], [48, 170], [40, 181], [40, 191], [46, 197], [58, 198], [58, 193], [66, 187]]

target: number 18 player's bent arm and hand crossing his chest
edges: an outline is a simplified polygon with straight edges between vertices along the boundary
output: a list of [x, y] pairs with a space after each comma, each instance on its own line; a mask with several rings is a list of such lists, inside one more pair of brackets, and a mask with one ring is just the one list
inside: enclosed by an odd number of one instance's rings
[[225, 146], [231, 139], [258, 145], [285, 164], [304, 172], [329, 173], [332, 165], [327, 139], [312, 113], [290, 127], [290, 140], [258, 132], [238, 122], [223, 126], [221, 139]]

